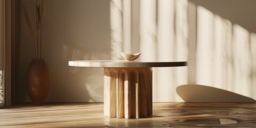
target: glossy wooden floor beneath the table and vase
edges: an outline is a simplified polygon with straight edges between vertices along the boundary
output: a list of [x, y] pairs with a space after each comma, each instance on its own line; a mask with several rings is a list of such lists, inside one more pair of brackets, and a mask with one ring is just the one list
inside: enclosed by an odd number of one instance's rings
[[256, 127], [256, 103], [157, 102], [153, 116], [103, 116], [103, 103], [22, 103], [0, 109], [0, 127]]

